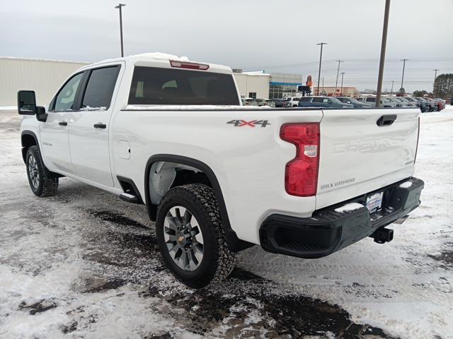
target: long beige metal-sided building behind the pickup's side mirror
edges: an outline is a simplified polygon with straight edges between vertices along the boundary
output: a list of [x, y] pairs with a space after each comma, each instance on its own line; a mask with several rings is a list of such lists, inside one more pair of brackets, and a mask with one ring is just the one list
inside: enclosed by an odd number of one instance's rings
[[17, 105], [18, 90], [34, 90], [46, 106], [69, 74], [88, 63], [0, 57], [0, 107]]

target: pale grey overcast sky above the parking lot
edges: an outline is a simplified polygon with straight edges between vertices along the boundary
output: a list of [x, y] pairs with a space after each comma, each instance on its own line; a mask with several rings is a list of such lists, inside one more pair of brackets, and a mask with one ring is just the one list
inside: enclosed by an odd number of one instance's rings
[[[99, 61], [120, 56], [117, 1], [1, 1], [0, 56]], [[375, 88], [384, 0], [124, 0], [125, 54], [166, 52], [246, 71], [318, 74]], [[453, 73], [453, 0], [391, 0], [384, 88], [432, 90]]]

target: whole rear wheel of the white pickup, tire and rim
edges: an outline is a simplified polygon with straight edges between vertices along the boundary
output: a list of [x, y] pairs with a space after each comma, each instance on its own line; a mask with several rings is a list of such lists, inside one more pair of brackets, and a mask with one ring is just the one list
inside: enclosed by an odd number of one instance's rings
[[189, 287], [223, 280], [236, 265], [217, 198], [208, 186], [188, 184], [168, 191], [157, 212], [156, 236], [166, 266]]

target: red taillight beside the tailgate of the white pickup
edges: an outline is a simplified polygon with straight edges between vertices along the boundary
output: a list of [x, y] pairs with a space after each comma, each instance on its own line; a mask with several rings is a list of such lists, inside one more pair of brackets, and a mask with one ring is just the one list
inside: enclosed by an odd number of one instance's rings
[[292, 196], [314, 196], [318, 186], [319, 124], [285, 124], [280, 138], [296, 146], [296, 157], [287, 163], [285, 189]]

